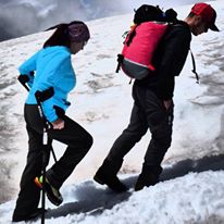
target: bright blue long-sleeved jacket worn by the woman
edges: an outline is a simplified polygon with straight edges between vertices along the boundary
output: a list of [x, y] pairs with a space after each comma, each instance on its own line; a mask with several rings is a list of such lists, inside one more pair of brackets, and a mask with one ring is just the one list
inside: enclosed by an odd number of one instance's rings
[[26, 99], [27, 104], [37, 104], [37, 90], [43, 91], [53, 87], [54, 95], [42, 102], [42, 110], [49, 122], [58, 120], [53, 105], [66, 111], [70, 105], [67, 94], [76, 84], [70, 49], [63, 46], [43, 48], [25, 61], [18, 71], [22, 75], [29, 76], [32, 71], [36, 72], [34, 79], [30, 78], [28, 83], [30, 91]]

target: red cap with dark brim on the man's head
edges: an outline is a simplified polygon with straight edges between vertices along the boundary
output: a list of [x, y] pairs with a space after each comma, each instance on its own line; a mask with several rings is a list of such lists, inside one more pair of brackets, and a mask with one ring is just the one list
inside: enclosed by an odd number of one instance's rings
[[216, 12], [210, 4], [203, 2], [196, 3], [190, 12], [196, 15], [200, 15], [203, 18], [203, 21], [208, 23], [209, 28], [213, 32], [220, 32], [214, 24], [216, 20]]

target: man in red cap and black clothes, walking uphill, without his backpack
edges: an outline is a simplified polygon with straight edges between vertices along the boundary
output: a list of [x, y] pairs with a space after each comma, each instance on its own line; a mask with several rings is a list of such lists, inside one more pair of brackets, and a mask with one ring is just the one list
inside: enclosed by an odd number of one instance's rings
[[179, 75], [185, 64], [191, 34], [198, 36], [207, 33], [209, 28], [219, 32], [214, 24], [216, 12], [211, 5], [197, 3], [185, 21], [170, 26], [153, 55], [155, 74], [134, 83], [134, 107], [129, 124], [115, 140], [97, 171], [94, 177], [96, 182], [105, 184], [115, 191], [126, 190], [116, 174], [124, 155], [141, 139], [148, 128], [151, 132], [151, 140], [135, 190], [159, 182], [161, 163], [172, 141], [175, 76]]

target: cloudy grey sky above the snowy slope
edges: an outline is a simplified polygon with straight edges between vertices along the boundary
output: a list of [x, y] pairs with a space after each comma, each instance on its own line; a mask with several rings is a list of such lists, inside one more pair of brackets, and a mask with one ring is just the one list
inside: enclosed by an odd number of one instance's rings
[[133, 12], [141, 3], [176, 7], [203, 0], [0, 0], [0, 41], [34, 34], [58, 23]]

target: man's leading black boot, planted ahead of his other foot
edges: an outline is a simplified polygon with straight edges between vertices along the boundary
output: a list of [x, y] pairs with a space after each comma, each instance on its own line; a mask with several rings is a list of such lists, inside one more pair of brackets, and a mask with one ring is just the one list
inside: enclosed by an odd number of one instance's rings
[[135, 191], [144, 189], [144, 187], [153, 186], [159, 182], [159, 176], [155, 174], [148, 174], [142, 175], [140, 174], [136, 184], [135, 184]]

